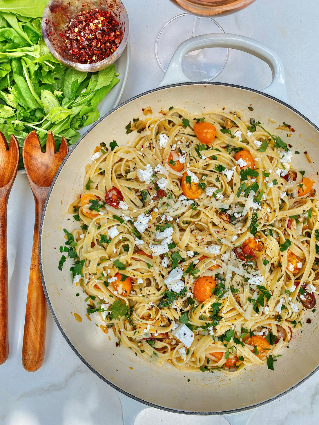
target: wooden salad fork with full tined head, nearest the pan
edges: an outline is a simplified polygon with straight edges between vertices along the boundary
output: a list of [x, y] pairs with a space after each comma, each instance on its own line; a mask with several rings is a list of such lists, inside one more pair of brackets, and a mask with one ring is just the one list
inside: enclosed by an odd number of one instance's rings
[[39, 266], [39, 230], [41, 216], [49, 188], [68, 153], [68, 144], [63, 137], [59, 152], [51, 131], [46, 138], [46, 152], [42, 151], [35, 131], [26, 136], [22, 157], [26, 175], [35, 201], [33, 246], [24, 322], [22, 364], [26, 371], [37, 371], [43, 363], [46, 343], [46, 297], [43, 292]]

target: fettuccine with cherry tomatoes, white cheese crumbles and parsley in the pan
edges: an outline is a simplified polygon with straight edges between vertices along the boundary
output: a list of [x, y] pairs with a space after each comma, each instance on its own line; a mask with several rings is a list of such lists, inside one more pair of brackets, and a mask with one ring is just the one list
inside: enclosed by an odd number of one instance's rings
[[101, 140], [92, 154], [60, 248], [73, 283], [88, 317], [157, 365], [273, 369], [316, 304], [313, 182], [254, 119], [162, 113], [126, 126], [131, 146]]

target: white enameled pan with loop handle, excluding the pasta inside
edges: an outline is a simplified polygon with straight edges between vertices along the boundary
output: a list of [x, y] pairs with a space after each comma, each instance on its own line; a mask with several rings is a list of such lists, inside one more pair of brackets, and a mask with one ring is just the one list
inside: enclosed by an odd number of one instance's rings
[[[231, 84], [185, 83], [182, 57], [190, 51], [208, 47], [234, 48], [264, 60], [273, 73], [271, 85], [260, 92]], [[319, 320], [316, 314], [310, 313], [312, 324], [303, 326], [302, 337], [297, 331], [289, 349], [282, 349], [283, 356], [276, 362], [274, 371], [263, 365], [233, 377], [219, 372], [185, 373], [172, 365], [159, 368], [135, 357], [128, 348], [116, 348], [114, 336], [108, 340], [111, 333], [103, 334], [95, 320], [86, 319], [84, 297], [75, 297], [76, 288], [71, 284], [68, 266], [64, 267], [63, 273], [57, 269], [59, 247], [63, 244], [62, 229], [71, 230], [75, 226], [68, 221], [68, 207], [82, 190], [85, 164], [96, 145], [114, 139], [119, 145], [131, 142], [133, 133], [125, 134], [125, 125], [140, 116], [142, 108], [150, 106], [153, 113], [158, 114], [161, 109], [173, 105], [194, 113], [223, 107], [226, 111], [236, 109], [245, 121], [253, 116], [275, 134], [278, 134], [275, 130], [278, 123], [288, 122], [296, 130], [289, 138], [293, 150], [308, 151], [313, 160], [309, 164], [305, 155], [295, 155], [293, 161], [298, 163], [293, 164], [298, 165], [299, 170], [307, 170], [318, 189], [318, 128], [288, 105], [282, 63], [276, 53], [255, 40], [234, 34], [194, 37], [179, 46], [157, 88], [129, 99], [99, 119], [63, 161], [42, 217], [40, 265], [43, 287], [54, 320], [68, 344], [88, 368], [119, 391], [126, 424], [133, 423], [135, 415], [145, 405], [183, 414], [222, 414], [232, 424], [243, 424], [251, 414], [251, 411], [247, 412], [249, 409], [285, 394], [318, 369], [319, 334], [316, 330]], [[252, 105], [253, 112], [248, 110], [249, 105]], [[277, 124], [269, 119], [276, 119]], [[71, 312], [80, 314], [82, 323], [77, 322]], [[229, 416], [242, 411], [245, 411], [244, 417]]]

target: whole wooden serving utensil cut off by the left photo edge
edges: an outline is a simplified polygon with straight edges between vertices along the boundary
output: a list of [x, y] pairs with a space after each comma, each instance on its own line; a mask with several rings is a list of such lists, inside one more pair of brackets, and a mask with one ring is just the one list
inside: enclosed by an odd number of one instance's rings
[[0, 131], [0, 365], [9, 355], [8, 327], [8, 259], [7, 259], [7, 205], [9, 193], [17, 176], [20, 148], [11, 134], [10, 149]]

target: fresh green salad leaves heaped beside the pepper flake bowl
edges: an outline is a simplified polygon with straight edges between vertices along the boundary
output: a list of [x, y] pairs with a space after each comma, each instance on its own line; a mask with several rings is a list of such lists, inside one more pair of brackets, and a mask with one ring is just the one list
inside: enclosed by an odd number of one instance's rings
[[[48, 130], [57, 145], [62, 136], [74, 144], [77, 130], [99, 118], [97, 105], [119, 81], [115, 67], [85, 73], [62, 65], [43, 40], [41, 20], [5, 11], [3, 3], [11, 2], [0, 2], [0, 131], [8, 141], [14, 134], [20, 147], [32, 130], [42, 146]], [[41, 3], [35, 2], [35, 14]]]

